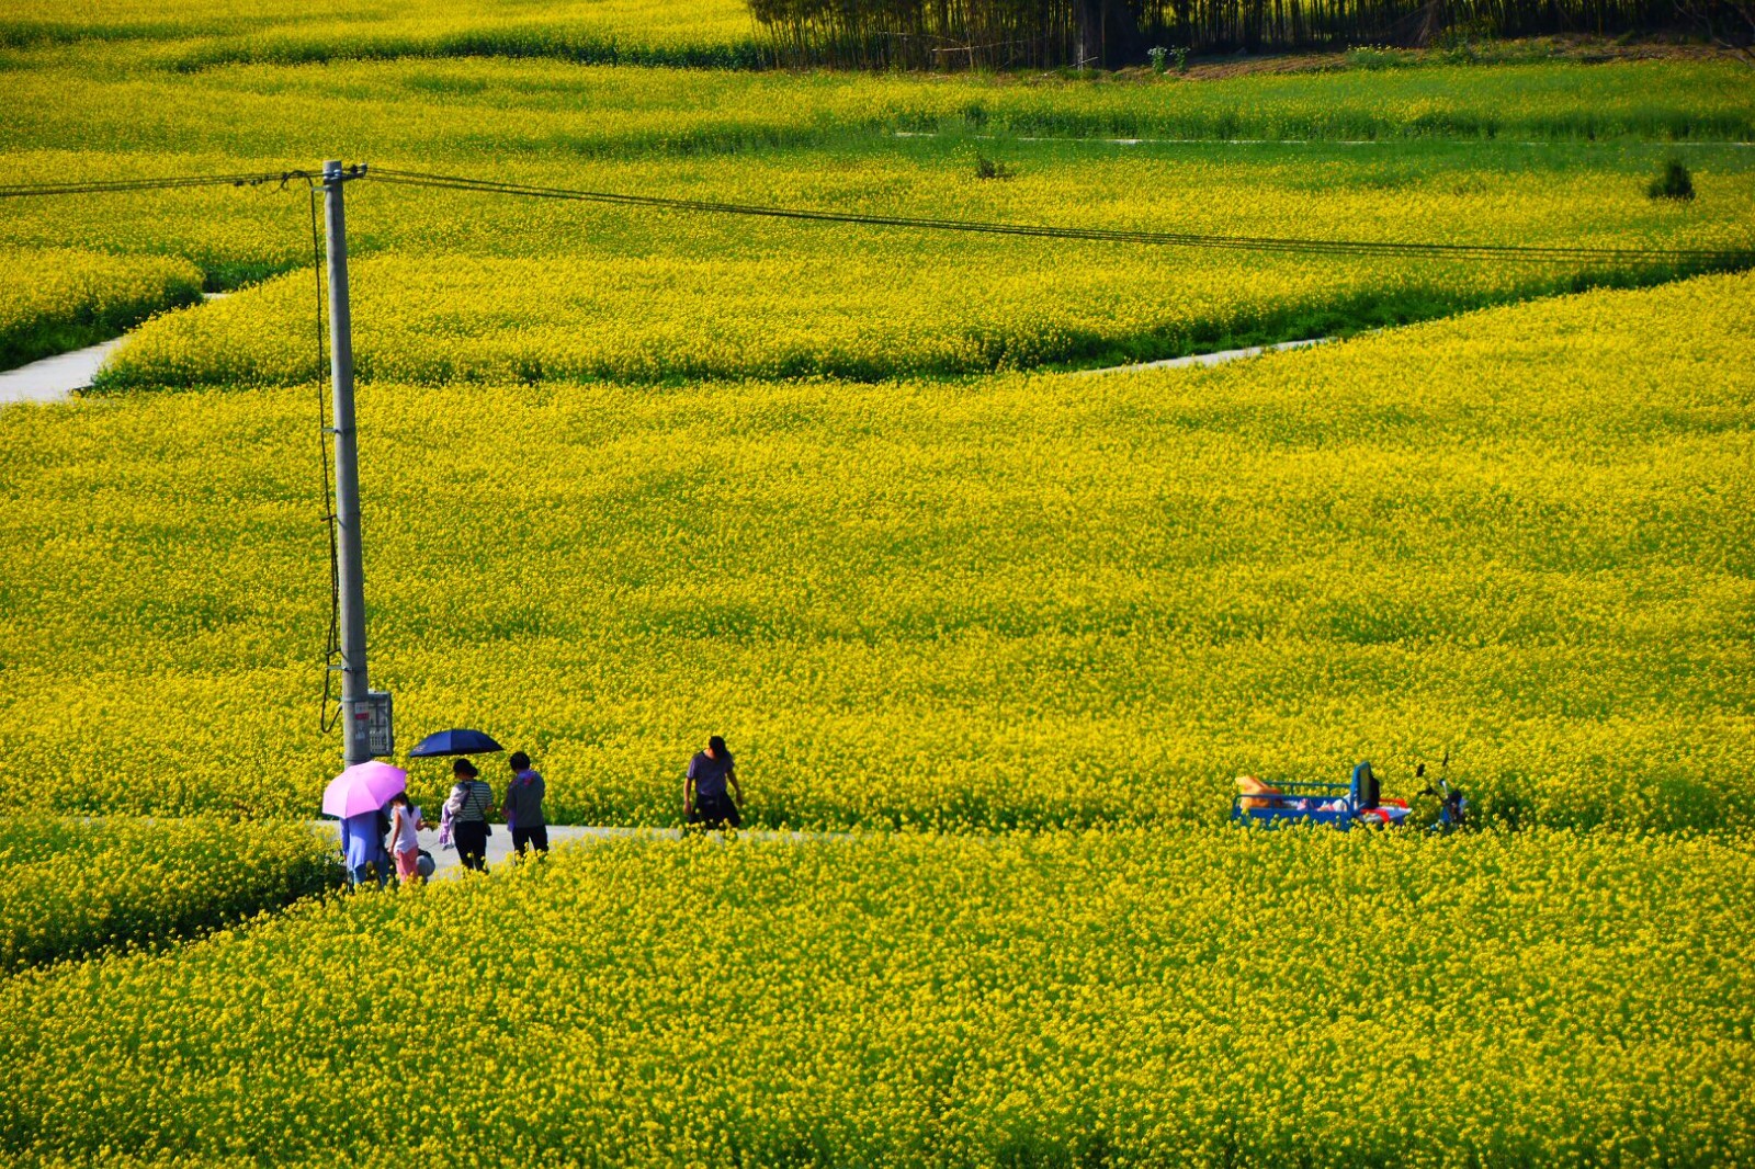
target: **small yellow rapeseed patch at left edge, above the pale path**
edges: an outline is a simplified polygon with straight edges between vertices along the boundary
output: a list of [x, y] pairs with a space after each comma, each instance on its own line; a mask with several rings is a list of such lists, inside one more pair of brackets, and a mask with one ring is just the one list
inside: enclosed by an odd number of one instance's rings
[[0, 369], [105, 341], [200, 297], [188, 260], [0, 247]]

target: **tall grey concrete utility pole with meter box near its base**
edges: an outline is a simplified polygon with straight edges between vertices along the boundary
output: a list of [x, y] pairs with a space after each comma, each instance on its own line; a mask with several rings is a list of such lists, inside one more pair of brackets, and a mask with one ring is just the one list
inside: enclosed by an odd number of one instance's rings
[[[393, 753], [390, 695], [372, 693], [365, 674], [365, 563], [360, 558], [360, 444], [353, 423], [353, 316], [347, 309], [347, 218], [342, 184], [363, 174], [323, 163], [328, 212], [330, 381], [335, 398], [335, 560], [340, 609], [340, 714], [347, 765]], [[332, 667], [333, 669], [333, 667]]]

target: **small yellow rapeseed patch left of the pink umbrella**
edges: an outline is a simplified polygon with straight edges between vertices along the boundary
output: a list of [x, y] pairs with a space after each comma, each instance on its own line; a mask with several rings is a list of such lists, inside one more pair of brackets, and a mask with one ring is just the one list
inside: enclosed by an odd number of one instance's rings
[[335, 885], [304, 823], [0, 820], [0, 974], [212, 930]]

